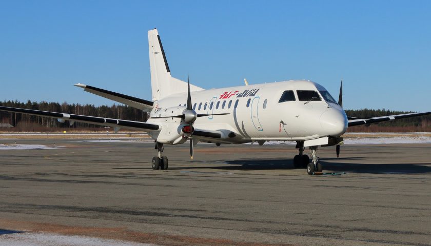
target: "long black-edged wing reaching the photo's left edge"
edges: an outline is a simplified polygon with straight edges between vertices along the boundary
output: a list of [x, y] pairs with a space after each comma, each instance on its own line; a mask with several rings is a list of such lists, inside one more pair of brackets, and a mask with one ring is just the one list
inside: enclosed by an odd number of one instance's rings
[[60, 122], [65, 122], [69, 120], [71, 124], [73, 122], [84, 122], [93, 125], [107, 126], [113, 127], [114, 129], [130, 129], [130, 130], [138, 130], [144, 132], [155, 132], [160, 130], [160, 126], [157, 124], [151, 124], [146, 122], [139, 121], [131, 121], [131, 120], [122, 120], [122, 119], [110, 119], [110, 118], [102, 118], [102, 117], [93, 117], [93, 116], [85, 116], [85, 115], [77, 115], [77, 114], [64, 114], [64, 113], [56, 113], [56, 112], [48, 112], [48, 111], [40, 111], [40, 110], [32, 110], [32, 109], [18, 109], [18, 108], [10, 108], [0, 106], [0, 110], [14, 112], [14, 113], [22, 113], [22, 114], [30, 114], [37, 116], [46, 116], [50, 118], [56, 118]]

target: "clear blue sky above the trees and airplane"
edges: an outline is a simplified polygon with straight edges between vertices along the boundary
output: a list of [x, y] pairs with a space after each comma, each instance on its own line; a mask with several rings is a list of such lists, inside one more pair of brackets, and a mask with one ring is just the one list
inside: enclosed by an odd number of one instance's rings
[[0, 100], [151, 99], [147, 30], [209, 89], [310, 79], [344, 108], [431, 111], [431, 1], [1, 1]]

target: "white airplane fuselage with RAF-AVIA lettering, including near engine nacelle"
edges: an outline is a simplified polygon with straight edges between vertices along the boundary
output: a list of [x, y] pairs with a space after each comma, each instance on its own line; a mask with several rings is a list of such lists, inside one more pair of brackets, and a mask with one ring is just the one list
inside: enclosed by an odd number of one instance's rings
[[[279, 103], [284, 91], [293, 91], [295, 100]], [[321, 100], [307, 103], [299, 100], [297, 91], [316, 91]], [[306, 80], [195, 91], [191, 93], [191, 101], [198, 114], [229, 114], [199, 117], [193, 126], [234, 132], [236, 137], [220, 140], [231, 143], [340, 136], [347, 129], [347, 116], [335, 101], [325, 100], [320, 91], [326, 89]], [[154, 103], [150, 117], [181, 114], [186, 102], [186, 92], [162, 98]], [[186, 125], [180, 118], [150, 118], [147, 122], [162, 125], [164, 130], [150, 135], [167, 144], [179, 143], [174, 138], [178, 139], [181, 127]]]

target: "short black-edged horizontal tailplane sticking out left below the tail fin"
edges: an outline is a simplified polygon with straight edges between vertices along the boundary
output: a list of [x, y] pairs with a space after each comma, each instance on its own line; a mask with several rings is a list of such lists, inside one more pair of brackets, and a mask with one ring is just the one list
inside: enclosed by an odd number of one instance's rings
[[128, 106], [136, 108], [136, 109], [140, 109], [140, 110], [145, 111], [145, 112], [151, 111], [151, 109], [153, 108], [153, 105], [154, 105], [154, 103], [152, 101], [148, 101], [148, 100], [140, 99], [137, 97], [120, 94], [120, 93], [113, 92], [113, 91], [100, 89], [97, 87], [92, 87], [92, 86], [87, 86], [87, 85], [82, 85], [82, 84], [76, 84], [75, 86], [81, 87], [84, 89], [84, 91], [90, 92], [92, 94], [117, 101], [119, 103], [128, 105]]

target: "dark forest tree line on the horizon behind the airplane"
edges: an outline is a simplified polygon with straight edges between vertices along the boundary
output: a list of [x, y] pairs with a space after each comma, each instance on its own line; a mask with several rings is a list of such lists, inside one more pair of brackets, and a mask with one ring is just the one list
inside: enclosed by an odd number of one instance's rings
[[[68, 103], [48, 103], [47, 101], [28, 100], [27, 103], [15, 101], [0, 102], [0, 106], [34, 109], [52, 112], [61, 112], [68, 114], [81, 114], [88, 116], [116, 118], [134, 121], [146, 121], [148, 114], [139, 109], [135, 109], [124, 105], [111, 105], [111, 106], [94, 106], [92, 104], [68, 104]], [[391, 111], [385, 109], [359, 109], [359, 110], [345, 110], [346, 114], [351, 117], [369, 118], [386, 115], [404, 114], [412, 112]], [[71, 130], [105, 130], [103, 126], [95, 126], [81, 122], [74, 122], [69, 126], [69, 122], [58, 122], [57, 119], [32, 116], [19, 113], [11, 113], [0, 111], [0, 123], [10, 124], [13, 127], [1, 127], [3, 131], [25, 131], [25, 132], [55, 132], [60, 129]], [[371, 124], [369, 126], [356, 126], [348, 129], [349, 132], [431, 132], [431, 115], [405, 118], [394, 121], [380, 122], [378, 124]]]

